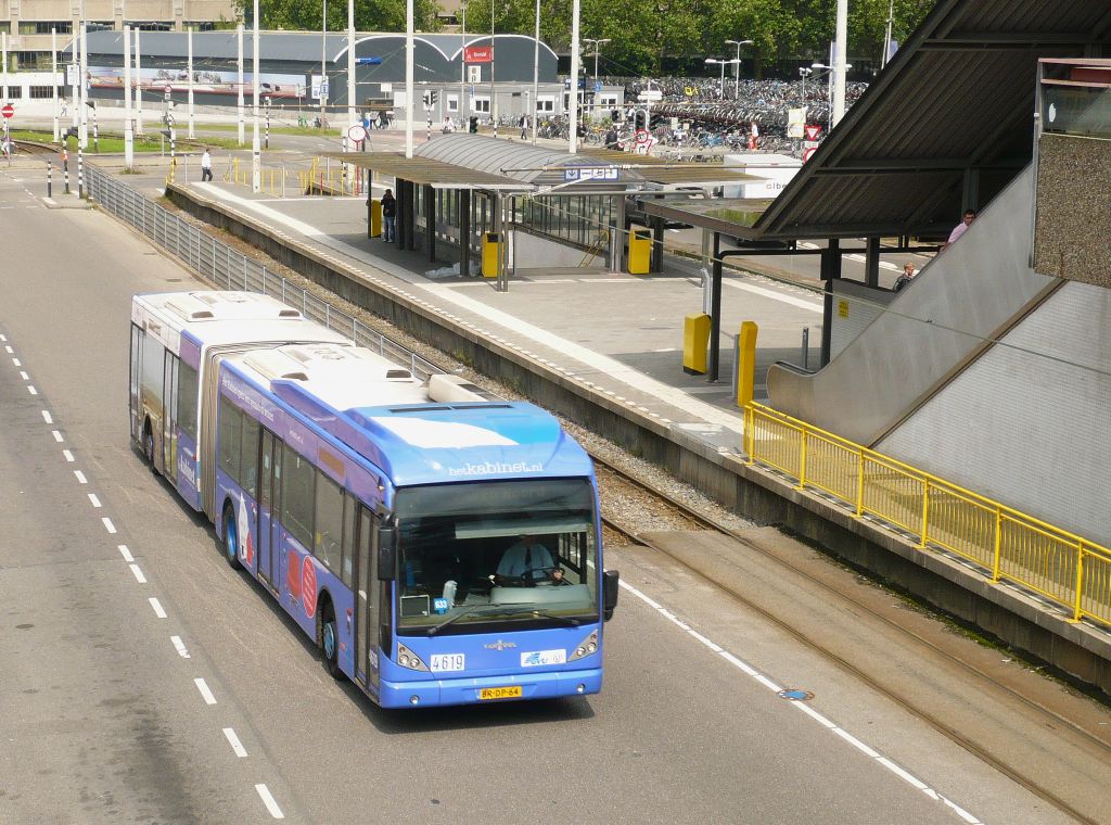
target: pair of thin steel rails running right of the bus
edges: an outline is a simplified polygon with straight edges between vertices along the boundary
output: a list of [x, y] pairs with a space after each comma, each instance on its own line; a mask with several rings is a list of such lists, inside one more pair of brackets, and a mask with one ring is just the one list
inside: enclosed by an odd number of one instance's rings
[[[962, 670], [967, 678], [972, 682], [974, 680], [978, 685], [987, 688], [992, 693], [1002, 694], [1012, 702], [1020, 703], [1030, 714], [1042, 720], [1042, 724], [1052, 730], [1067, 730], [1071, 736], [1077, 737], [1080, 742], [1084, 743], [1089, 749], [1094, 751], [1097, 754], [1102, 755], [1104, 764], [1111, 763], [1111, 738], [1105, 738], [1098, 736], [1078, 724], [1075, 720], [1068, 718], [1061, 713], [1054, 710], [1051, 707], [1031, 699], [1030, 697], [1023, 695], [1021, 692], [1014, 689], [1012, 686], [1001, 683], [995, 679], [991, 674], [985, 673], [983, 669], [978, 667], [975, 664], [970, 663], [962, 658], [954, 650], [945, 649], [942, 645], [921, 636], [920, 634], [910, 630], [898, 623], [891, 620], [888, 616], [877, 612], [867, 602], [854, 597], [851, 593], [831, 585], [829, 582], [821, 579], [818, 576], [812, 575], [810, 571], [801, 568], [798, 565], [792, 564], [790, 560], [775, 555], [760, 545], [749, 540], [743, 535], [739, 534], [737, 530], [730, 528], [727, 525], [721, 524], [713, 517], [707, 516], [699, 513], [693, 507], [675, 500], [673, 496], [664, 490], [657, 488], [655, 486], [645, 483], [631, 476], [625, 470], [619, 468], [611, 461], [593, 455], [592, 458], [595, 464], [595, 469], [598, 473], [599, 484], [602, 487], [608, 487], [611, 485], [625, 485], [628, 487], [634, 488], [639, 494], [644, 496], [650, 496], [658, 501], [660, 507], [667, 507], [673, 510], [677, 516], [677, 527], [674, 529], [692, 529], [692, 530], [712, 530], [723, 535], [729, 536], [733, 540], [744, 545], [744, 547], [754, 554], [759, 554], [761, 560], [765, 560], [772, 565], [778, 566], [791, 576], [800, 577], [805, 580], [805, 583], [813, 588], [819, 589], [823, 595], [828, 596], [831, 605], [841, 604], [844, 605], [857, 614], [864, 614], [871, 620], [880, 624], [888, 633], [898, 635], [909, 642], [913, 646], [923, 648], [931, 656], [942, 657], [947, 662], [957, 666]], [[628, 494], [625, 494], [628, 495]], [[604, 509], [604, 506], [603, 506]], [[675, 558], [670, 554], [667, 548], [660, 547], [658, 544], [653, 543], [650, 538], [643, 535], [644, 531], [632, 527], [628, 524], [623, 524], [621, 520], [611, 518], [603, 514], [602, 518], [603, 525], [607, 530], [617, 536], [623, 537], [629, 541], [645, 545], [652, 549], [657, 549], [664, 555]], [[683, 528], [679, 525], [685, 523], [689, 527]], [[682, 559], [677, 559], [682, 564]], [[1022, 787], [1027, 788], [1031, 793], [1044, 799], [1047, 803], [1058, 808], [1062, 813], [1071, 816], [1078, 822], [1090, 823], [1097, 825], [1098, 823], [1105, 823], [1107, 818], [1093, 818], [1090, 813], [1085, 813], [1078, 809], [1069, 799], [1063, 798], [1059, 793], [1057, 793], [1052, 787], [1049, 787], [1048, 783], [1042, 781], [1037, 776], [1029, 775], [1031, 772], [1022, 769], [1012, 764], [1008, 759], [1005, 754], [999, 754], [989, 749], [981, 744], [979, 744], [974, 738], [962, 733], [960, 729], [955, 728], [947, 719], [942, 718], [941, 715], [934, 713], [929, 707], [924, 706], [922, 703], [915, 703], [901, 692], [893, 689], [891, 686], [885, 685], [882, 680], [875, 678], [869, 673], [865, 673], [861, 667], [853, 664], [851, 660], [845, 658], [843, 655], [834, 652], [829, 646], [822, 644], [819, 638], [813, 638], [808, 634], [799, 630], [799, 628], [789, 619], [779, 615], [774, 609], [769, 608], [764, 604], [761, 604], [758, 599], [754, 599], [743, 593], [738, 592], [734, 588], [730, 588], [728, 585], [722, 584], [707, 576], [702, 571], [694, 570], [697, 575], [701, 578], [709, 580], [714, 586], [724, 589], [731, 597], [739, 600], [747, 608], [758, 613], [768, 622], [772, 623], [774, 626], [779, 627], [783, 632], [791, 635], [793, 638], [798, 639], [800, 643], [814, 650], [822, 657], [834, 663], [839, 668], [852, 674], [854, 677], [859, 678], [865, 683], [869, 687], [882, 694], [889, 700], [895, 703], [900, 707], [903, 707], [913, 716], [922, 719], [928, 725], [933, 727], [935, 730], [941, 733], [943, 736], [949, 738], [951, 742], [955, 743], [960, 747], [964, 748], [970, 754], [974, 755], [982, 762], [991, 765], [994, 769], [999, 771], [1003, 775], [1010, 777], [1013, 782], [1018, 783]], [[1105, 794], [1105, 788], [1103, 789]]]

